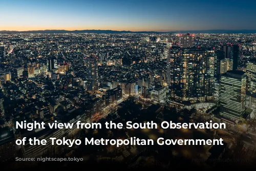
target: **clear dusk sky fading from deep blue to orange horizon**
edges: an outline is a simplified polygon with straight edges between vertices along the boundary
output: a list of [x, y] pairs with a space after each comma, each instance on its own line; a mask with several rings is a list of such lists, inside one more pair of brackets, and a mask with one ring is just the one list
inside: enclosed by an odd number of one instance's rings
[[0, 30], [256, 29], [255, 0], [0, 1]]

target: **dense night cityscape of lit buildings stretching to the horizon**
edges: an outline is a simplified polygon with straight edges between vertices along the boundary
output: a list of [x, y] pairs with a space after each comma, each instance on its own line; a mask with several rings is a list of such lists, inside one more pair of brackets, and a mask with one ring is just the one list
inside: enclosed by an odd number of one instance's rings
[[[0, 163], [8, 168], [46, 167], [46, 161], [58, 167], [74, 163], [252, 167], [255, 59], [256, 34], [2, 33]], [[123, 124], [211, 120], [226, 123], [227, 129], [15, 129], [16, 121], [24, 120]], [[222, 138], [225, 144], [16, 145], [15, 140], [23, 137]]]

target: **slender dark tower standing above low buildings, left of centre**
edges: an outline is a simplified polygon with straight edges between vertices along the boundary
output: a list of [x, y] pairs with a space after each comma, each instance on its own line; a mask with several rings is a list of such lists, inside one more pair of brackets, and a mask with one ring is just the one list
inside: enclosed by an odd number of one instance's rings
[[88, 91], [97, 91], [99, 86], [97, 57], [91, 55], [86, 58]]

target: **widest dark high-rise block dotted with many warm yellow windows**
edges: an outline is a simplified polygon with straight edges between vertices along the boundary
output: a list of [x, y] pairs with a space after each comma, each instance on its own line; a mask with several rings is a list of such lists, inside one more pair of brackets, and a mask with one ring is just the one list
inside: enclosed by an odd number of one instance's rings
[[169, 49], [167, 84], [172, 100], [191, 103], [212, 99], [214, 51], [204, 48]]

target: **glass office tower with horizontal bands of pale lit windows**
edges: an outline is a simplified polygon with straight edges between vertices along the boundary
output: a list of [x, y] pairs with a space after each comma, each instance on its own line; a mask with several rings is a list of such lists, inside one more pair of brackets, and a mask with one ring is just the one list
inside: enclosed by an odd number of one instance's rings
[[227, 71], [221, 75], [220, 115], [232, 121], [245, 111], [246, 74], [243, 71]]

